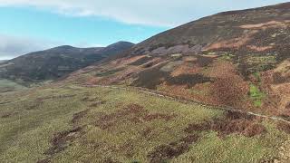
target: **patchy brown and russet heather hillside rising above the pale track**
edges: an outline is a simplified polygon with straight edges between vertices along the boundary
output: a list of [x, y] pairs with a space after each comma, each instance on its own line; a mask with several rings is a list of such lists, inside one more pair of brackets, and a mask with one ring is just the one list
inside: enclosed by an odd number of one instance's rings
[[66, 81], [121, 84], [289, 120], [290, 3], [210, 15]]

